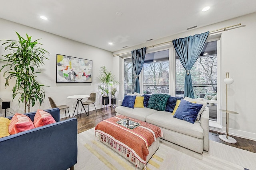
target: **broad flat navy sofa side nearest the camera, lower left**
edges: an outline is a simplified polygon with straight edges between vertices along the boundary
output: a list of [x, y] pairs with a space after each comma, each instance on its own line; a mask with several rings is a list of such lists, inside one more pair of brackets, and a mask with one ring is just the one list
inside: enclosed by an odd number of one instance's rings
[[0, 138], [0, 150], [3, 170], [66, 170], [77, 162], [77, 120]]

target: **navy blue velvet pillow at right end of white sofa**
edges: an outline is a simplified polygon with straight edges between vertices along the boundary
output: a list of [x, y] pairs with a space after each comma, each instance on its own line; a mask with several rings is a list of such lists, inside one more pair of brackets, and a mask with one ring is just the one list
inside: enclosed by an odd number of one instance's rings
[[202, 108], [202, 106], [203, 106], [202, 104], [191, 103], [182, 99], [173, 117], [176, 117], [178, 119], [185, 120], [194, 124], [196, 121], [196, 117], [200, 109]]

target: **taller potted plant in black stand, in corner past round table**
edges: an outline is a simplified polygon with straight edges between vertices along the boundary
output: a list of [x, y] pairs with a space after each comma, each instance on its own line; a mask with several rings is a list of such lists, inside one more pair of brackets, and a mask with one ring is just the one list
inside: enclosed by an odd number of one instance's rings
[[115, 76], [112, 72], [108, 71], [105, 66], [100, 67], [100, 76], [99, 76], [101, 84], [98, 85], [98, 89], [101, 90], [102, 94], [102, 105], [109, 104], [109, 88], [116, 83]]

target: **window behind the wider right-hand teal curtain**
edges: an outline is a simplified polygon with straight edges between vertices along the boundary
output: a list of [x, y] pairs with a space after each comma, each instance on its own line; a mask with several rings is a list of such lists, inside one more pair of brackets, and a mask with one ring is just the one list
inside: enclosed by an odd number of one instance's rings
[[[184, 96], [185, 73], [186, 70], [176, 54], [176, 96]], [[190, 74], [195, 98], [207, 97], [208, 100], [211, 100], [215, 95], [207, 95], [207, 93], [217, 93], [217, 41], [205, 43]], [[209, 102], [209, 119], [217, 121], [217, 101], [206, 100], [206, 102]]]

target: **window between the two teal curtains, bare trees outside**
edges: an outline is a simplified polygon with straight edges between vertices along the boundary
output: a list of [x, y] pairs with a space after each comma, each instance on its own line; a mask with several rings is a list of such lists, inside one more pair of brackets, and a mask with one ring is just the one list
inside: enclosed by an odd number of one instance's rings
[[143, 93], [169, 93], [169, 50], [146, 54]]

